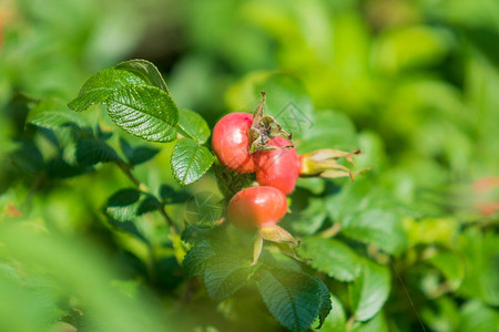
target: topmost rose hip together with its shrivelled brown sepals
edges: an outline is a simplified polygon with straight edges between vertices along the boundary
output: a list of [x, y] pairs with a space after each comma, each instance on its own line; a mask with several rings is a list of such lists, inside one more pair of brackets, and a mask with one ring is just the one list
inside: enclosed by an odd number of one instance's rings
[[[258, 151], [276, 149], [268, 142], [274, 137], [287, 137], [282, 126], [272, 117], [265, 116], [265, 93], [262, 92], [262, 102], [249, 113], [230, 113], [223, 116], [213, 128], [212, 147], [220, 163], [241, 174], [256, 170], [253, 153]], [[292, 147], [293, 144], [289, 144]]]

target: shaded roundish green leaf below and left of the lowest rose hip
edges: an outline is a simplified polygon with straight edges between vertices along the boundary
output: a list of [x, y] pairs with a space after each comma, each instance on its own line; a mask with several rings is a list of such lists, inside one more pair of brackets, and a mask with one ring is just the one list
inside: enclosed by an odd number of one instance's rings
[[249, 260], [238, 257], [217, 255], [206, 261], [204, 284], [208, 295], [215, 301], [226, 299], [251, 278], [254, 267]]

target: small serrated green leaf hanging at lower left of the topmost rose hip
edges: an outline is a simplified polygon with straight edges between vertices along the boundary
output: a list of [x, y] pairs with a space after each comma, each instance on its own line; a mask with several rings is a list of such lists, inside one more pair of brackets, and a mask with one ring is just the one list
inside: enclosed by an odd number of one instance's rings
[[210, 169], [215, 157], [204, 146], [190, 138], [182, 138], [173, 148], [172, 170], [181, 185], [198, 180]]

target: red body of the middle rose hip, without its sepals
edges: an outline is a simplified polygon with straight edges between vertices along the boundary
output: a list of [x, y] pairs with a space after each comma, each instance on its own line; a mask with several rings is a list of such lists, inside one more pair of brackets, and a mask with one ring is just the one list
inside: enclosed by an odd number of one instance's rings
[[295, 189], [299, 176], [299, 156], [294, 147], [284, 148], [293, 145], [284, 137], [271, 139], [269, 145], [282, 148], [254, 154], [256, 180], [261, 186], [272, 186], [288, 195]]

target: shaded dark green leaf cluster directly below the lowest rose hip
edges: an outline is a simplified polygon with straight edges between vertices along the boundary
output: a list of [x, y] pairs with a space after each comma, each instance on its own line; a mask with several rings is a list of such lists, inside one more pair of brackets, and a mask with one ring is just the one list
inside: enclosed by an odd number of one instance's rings
[[267, 255], [252, 266], [244, 246], [232, 247], [248, 243], [247, 235], [191, 226], [182, 238], [194, 242], [183, 266], [190, 276], [203, 276], [212, 299], [221, 301], [254, 280], [272, 315], [293, 331], [307, 330], [317, 317], [322, 325], [328, 315], [332, 307], [324, 282]]

